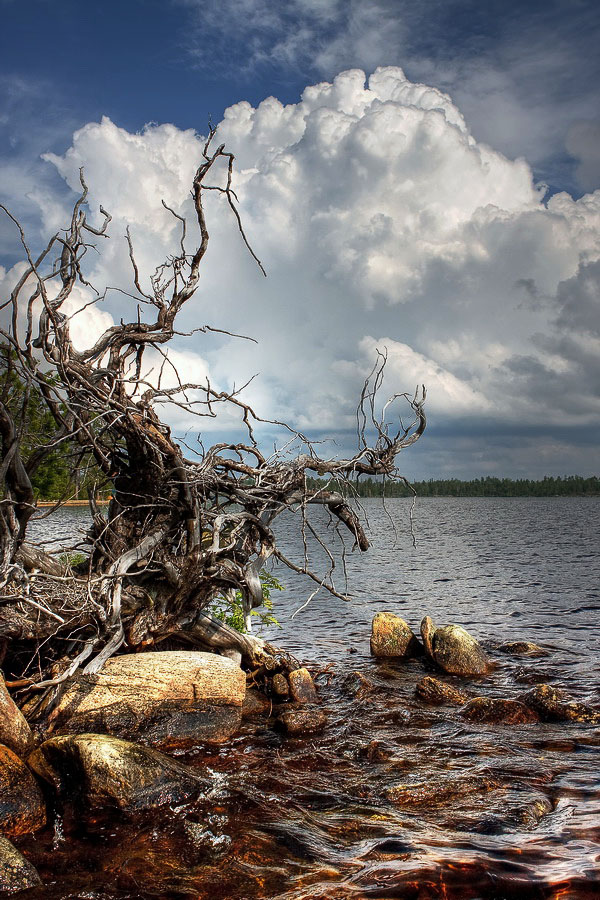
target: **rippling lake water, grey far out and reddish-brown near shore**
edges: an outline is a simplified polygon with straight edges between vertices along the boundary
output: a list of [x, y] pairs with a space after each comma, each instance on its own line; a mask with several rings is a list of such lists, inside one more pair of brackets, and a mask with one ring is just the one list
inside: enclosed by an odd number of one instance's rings
[[[421, 501], [416, 548], [407, 503], [389, 508], [397, 540], [368, 505], [376, 547], [350, 557], [351, 605], [317, 598], [291, 620], [307, 589], [280, 573], [284, 627], [269, 636], [315, 671], [333, 663], [317, 678], [327, 729], [289, 739], [246, 722], [228, 744], [188, 757], [212, 778], [196, 802], [135, 822], [99, 815], [85, 828], [58, 818], [19, 842], [45, 882], [27, 896], [600, 897], [600, 728], [471, 725], [458, 708], [417, 700], [416, 683], [436, 674], [425, 662], [368, 653], [375, 611], [415, 627], [429, 613], [487, 641], [498, 664], [485, 679], [446, 676], [457, 687], [518, 697], [543, 681], [597, 705], [600, 501]], [[282, 541], [294, 551], [290, 522]], [[517, 638], [549, 656], [493, 649]], [[345, 687], [353, 670], [373, 681], [363, 699]]]

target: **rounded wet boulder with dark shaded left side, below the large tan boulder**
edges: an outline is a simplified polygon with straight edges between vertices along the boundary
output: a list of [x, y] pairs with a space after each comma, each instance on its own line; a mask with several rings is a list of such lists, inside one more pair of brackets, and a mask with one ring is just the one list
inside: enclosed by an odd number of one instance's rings
[[143, 812], [181, 803], [206, 782], [168, 756], [106, 734], [65, 734], [45, 741], [29, 758], [61, 800], [80, 810]]

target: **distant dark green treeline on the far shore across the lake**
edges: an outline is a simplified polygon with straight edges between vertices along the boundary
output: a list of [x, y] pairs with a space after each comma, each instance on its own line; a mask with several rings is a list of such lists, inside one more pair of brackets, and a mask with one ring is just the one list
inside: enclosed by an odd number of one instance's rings
[[[348, 494], [345, 485], [325, 482], [318, 478], [308, 478], [310, 490], [327, 488]], [[460, 481], [458, 478], [414, 481], [412, 487], [417, 497], [563, 497], [600, 494], [600, 478], [593, 475], [566, 475], [556, 478], [546, 476], [538, 481], [530, 478], [474, 478]], [[361, 478], [353, 482], [352, 493], [358, 497], [412, 497], [413, 493], [405, 484], [397, 481], [378, 481]]]

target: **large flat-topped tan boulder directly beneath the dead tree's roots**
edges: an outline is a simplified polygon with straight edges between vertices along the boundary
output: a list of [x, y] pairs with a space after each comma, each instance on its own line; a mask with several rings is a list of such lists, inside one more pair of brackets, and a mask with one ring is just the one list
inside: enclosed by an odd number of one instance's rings
[[113, 734], [161, 750], [221, 743], [240, 726], [245, 692], [239, 666], [214, 653], [117, 656], [67, 689], [54, 733]]

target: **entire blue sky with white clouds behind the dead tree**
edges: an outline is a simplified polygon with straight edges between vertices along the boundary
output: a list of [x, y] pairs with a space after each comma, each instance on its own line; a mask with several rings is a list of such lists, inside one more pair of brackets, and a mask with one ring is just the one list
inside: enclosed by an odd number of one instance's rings
[[[190, 216], [209, 122], [235, 153], [267, 278], [211, 198], [181, 328], [257, 343], [178, 338], [187, 380], [256, 376], [257, 412], [347, 454], [385, 351], [384, 393], [428, 390], [409, 478], [598, 474], [597, 3], [0, 0], [0, 15], [1, 202], [35, 247], [66, 223], [83, 166], [90, 218], [113, 215], [97, 286], [131, 287], [127, 225], [146, 276], [176, 247], [161, 201]], [[3, 296], [21, 256], [0, 221]], [[87, 307], [76, 339], [126, 303]], [[201, 427], [210, 441], [233, 426]]]

